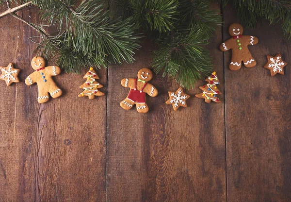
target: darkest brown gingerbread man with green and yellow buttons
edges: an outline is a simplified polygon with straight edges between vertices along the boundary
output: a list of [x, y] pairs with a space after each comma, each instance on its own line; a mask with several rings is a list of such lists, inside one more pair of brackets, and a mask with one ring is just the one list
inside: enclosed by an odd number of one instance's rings
[[257, 44], [259, 39], [256, 36], [242, 35], [243, 28], [239, 23], [232, 23], [228, 28], [228, 32], [232, 38], [222, 43], [219, 49], [224, 52], [232, 50], [229, 68], [231, 70], [238, 70], [242, 67], [242, 62], [245, 67], [255, 67], [257, 62], [247, 46]]

